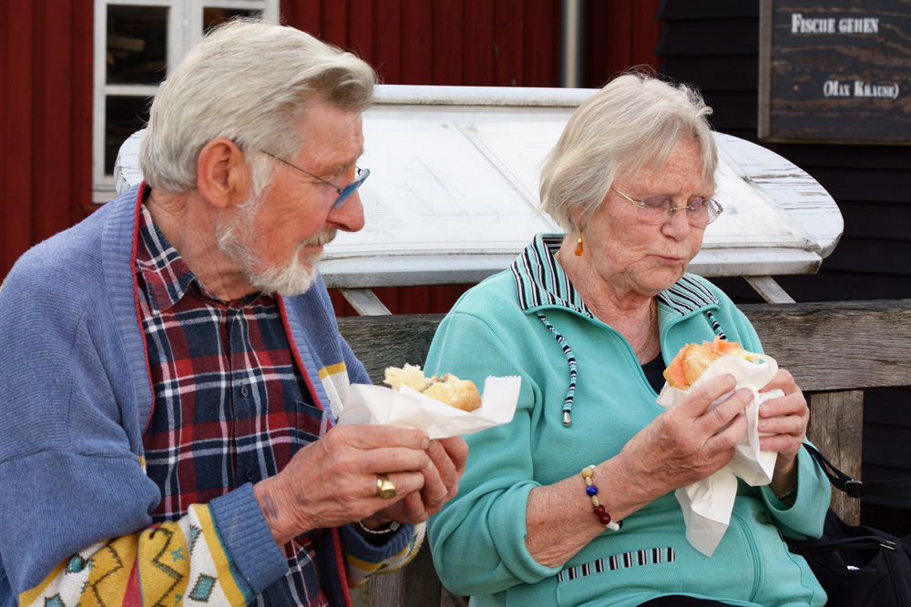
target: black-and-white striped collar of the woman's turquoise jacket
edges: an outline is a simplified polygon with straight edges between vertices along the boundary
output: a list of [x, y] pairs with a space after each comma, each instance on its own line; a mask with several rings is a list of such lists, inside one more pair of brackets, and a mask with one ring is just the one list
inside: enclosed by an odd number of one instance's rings
[[[538, 234], [513, 262], [509, 269], [516, 280], [519, 306], [527, 312], [556, 306], [593, 318], [557, 263], [555, 256], [562, 242], [562, 234]], [[711, 290], [690, 274], [684, 275], [658, 298], [681, 316], [718, 304]]]

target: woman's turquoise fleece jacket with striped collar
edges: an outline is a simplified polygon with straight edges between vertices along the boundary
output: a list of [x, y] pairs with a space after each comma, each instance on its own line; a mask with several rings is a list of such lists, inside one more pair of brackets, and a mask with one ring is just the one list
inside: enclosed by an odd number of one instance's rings
[[[617, 455], [663, 410], [630, 343], [590, 314], [552, 257], [561, 239], [538, 236], [510, 271], [469, 290], [440, 325], [427, 357], [428, 374], [453, 372], [478, 385], [488, 375], [522, 379], [514, 419], [466, 437], [458, 495], [428, 526], [445, 586], [471, 595], [478, 607], [631, 607], [662, 594], [755, 607], [823, 605], [825, 593], [806, 562], [779, 536], [822, 533], [829, 483], [804, 450], [793, 506], [767, 487], [741, 482], [730, 527], [711, 557], [686, 540], [673, 492], [632, 514], [620, 531], [603, 532], [562, 567], [545, 567], [528, 553], [529, 491]], [[721, 333], [762, 351], [731, 300], [691, 275], [660, 294], [658, 324], [665, 362], [685, 344]], [[565, 427], [570, 359], [578, 381]]]

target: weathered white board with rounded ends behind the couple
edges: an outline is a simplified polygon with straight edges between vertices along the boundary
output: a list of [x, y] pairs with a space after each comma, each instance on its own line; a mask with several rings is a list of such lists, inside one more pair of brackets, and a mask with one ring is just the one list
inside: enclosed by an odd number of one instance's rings
[[[373, 288], [472, 283], [505, 269], [538, 232], [537, 176], [575, 106], [593, 89], [378, 86], [364, 114], [371, 169], [360, 190], [366, 227], [340, 233], [327, 285]], [[703, 276], [813, 273], [844, 222], [832, 197], [764, 147], [716, 134], [722, 217], [691, 271]], [[118, 189], [137, 183], [141, 133], [120, 151]]]

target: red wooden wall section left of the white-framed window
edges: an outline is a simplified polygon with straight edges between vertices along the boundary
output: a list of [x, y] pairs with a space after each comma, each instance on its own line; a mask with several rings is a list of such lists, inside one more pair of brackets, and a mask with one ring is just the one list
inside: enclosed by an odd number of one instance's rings
[[91, 0], [0, 2], [0, 279], [91, 205], [92, 27]]

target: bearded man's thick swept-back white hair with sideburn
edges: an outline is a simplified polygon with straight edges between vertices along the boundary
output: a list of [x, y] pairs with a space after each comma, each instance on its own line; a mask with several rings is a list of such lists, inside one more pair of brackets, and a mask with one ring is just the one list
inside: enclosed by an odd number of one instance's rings
[[[193, 46], [160, 87], [139, 167], [152, 188], [186, 192], [196, 187], [200, 151], [218, 137], [244, 150], [294, 157], [306, 145], [294, 126], [313, 97], [361, 112], [375, 82], [369, 64], [298, 29], [230, 21]], [[259, 194], [273, 163], [262, 154], [247, 162]]]

